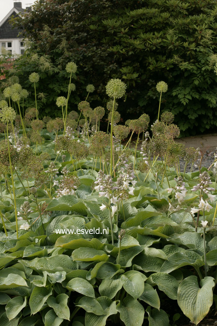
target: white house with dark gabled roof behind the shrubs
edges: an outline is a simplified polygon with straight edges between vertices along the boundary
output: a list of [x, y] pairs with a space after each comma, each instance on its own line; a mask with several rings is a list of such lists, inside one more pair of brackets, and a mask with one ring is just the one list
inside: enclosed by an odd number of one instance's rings
[[[31, 10], [31, 7], [26, 7], [27, 10]], [[8, 12], [5, 18], [0, 22], [0, 49], [5, 48], [12, 54], [23, 54], [24, 42], [22, 41], [19, 33], [22, 30], [18, 28], [12, 28], [9, 24], [9, 19], [12, 15], [21, 16], [24, 14], [25, 9], [22, 8], [22, 2], [14, 2], [14, 7]]]

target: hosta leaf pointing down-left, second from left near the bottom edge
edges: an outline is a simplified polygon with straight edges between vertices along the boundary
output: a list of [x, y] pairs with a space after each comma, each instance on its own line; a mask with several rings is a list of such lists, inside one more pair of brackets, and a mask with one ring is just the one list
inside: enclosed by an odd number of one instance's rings
[[46, 289], [45, 287], [35, 287], [33, 289], [29, 299], [29, 305], [33, 315], [42, 308], [43, 304], [51, 294], [52, 289]]

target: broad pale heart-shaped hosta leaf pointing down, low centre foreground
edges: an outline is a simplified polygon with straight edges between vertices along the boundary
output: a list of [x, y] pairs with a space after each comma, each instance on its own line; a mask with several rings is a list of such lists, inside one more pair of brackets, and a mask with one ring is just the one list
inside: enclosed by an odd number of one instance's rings
[[121, 283], [124, 290], [134, 299], [138, 299], [144, 291], [144, 280], [136, 271], [130, 271], [131, 274], [121, 275]]

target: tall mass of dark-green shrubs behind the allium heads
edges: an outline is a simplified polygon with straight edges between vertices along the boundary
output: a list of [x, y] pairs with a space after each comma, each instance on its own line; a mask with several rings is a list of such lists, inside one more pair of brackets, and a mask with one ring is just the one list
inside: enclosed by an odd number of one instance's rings
[[156, 118], [155, 85], [163, 80], [168, 92], [162, 109], [175, 114], [182, 135], [214, 130], [216, 14], [215, 0], [38, 0], [24, 19], [13, 20], [31, 41], [17, 74], [24, 84], [25, 74], [40, 73], [39, 88], [48, 94], [46, 115], [58, 115], [53, 100], [67, 91], [69, 61], [79, 67], [72, 109], [86, 96], [87, 84], [96, 88], [97, 106], [105, 100], [107, 81], [122, 78], [128, 86], [120, 106], [126, 119], [143, 112]]

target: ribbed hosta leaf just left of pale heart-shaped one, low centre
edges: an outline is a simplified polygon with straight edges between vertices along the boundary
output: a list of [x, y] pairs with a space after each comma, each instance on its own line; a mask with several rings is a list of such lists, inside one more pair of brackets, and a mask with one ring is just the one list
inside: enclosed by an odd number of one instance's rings
[[112, 299], [121, 288], [122, 283], [120, 276], [118, 276], [117, 279], [104, 279], [99, 286], [99, 293], [101, 296], [106, 296], [109, 299]]

